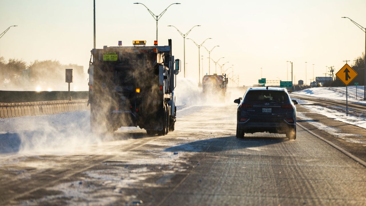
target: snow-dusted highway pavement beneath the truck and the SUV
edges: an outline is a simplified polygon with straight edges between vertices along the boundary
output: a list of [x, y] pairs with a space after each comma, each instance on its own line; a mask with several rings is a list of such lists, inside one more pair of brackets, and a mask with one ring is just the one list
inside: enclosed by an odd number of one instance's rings
[[296, 140], [237, 139], [234, 103], [177, 114], [174, 132], [152, 137], [91, 134], [89, 111], [0, 119], [0, 205], [366, 203], [365, 167], [299, 126]]

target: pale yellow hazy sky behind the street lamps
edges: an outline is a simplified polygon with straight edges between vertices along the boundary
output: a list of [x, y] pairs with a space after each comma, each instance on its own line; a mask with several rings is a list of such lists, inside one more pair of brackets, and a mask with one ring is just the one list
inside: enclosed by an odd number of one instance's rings
[[[324, 76], [326, 66], [338, 71], [343, 60], [353, 60], [365, 51], [365, 32], [347, 16], [366, 27], [365, 0], [96, 0], [96, 44], [116, 46], [122, 40], [146, 40], [152, 45], [156, 38], [156, 22], [141, 4], [154, 14], [172, 5], [158, 21], [159, 45], [172, 39], [173, 55], [183, 62], [183, 37], [168, 25], [186, 33], [187, 38], [208, 49], [215, 45], [211, 58], [234, 65], [240, 85], [251, 85], [261, 78], [291, 81], [293, 62], [296, 82], [307, 83]], [[11, 25], [0, 39], [0, 55], [5, 59], [59, 60], [62, 64], [89, 65], [93, 48], [93, 0], [0, 0], [0, 32]], [[204, 73], [208, 72], [208, 53], [201, 48]], [[186, 76], [198, 81], [198, 48], [186, 39]], [[211, 62], [211, 73], [215, 65]], [[201, 65], [202, 68], [202, 65]], [[231, 71], [231, 68], [227, 73]], [[217, 67], [217, 72], [220, 68]], [[183, 73], [179, 75], [183, 76]], [[231, 77], [231, 74], [229, 75]], [[202, 71], [201, 71], [202, 77]], [[86, 86], [87, 88], [87, 86]]]

